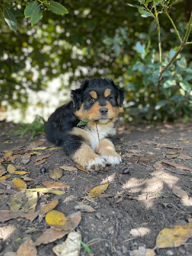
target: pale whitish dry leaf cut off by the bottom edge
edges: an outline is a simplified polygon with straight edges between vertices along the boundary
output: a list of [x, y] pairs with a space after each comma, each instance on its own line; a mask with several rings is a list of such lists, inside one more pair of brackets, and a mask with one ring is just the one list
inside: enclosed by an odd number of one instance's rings
[[81, 233], [70, 232], [65, 242], [54, 246], [52, 251], [58, 256], [78, 256], [80, 249]]

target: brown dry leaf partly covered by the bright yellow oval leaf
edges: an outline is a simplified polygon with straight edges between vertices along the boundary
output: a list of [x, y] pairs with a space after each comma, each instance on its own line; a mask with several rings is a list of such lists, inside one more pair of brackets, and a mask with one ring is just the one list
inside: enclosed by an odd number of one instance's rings
[[48, 228], [40, 237], [38, 237], [34, 244], [40, 245], [52, 243], [53, 241], [56, 241], [57, 239], [67, 235], [69, 232], [72, 232], [81, 221], [81, 212], [74, 212], [67, 216], [67, 218], [70, 220], [72, 225], [70, 230], [55, 230], [54, 228]]

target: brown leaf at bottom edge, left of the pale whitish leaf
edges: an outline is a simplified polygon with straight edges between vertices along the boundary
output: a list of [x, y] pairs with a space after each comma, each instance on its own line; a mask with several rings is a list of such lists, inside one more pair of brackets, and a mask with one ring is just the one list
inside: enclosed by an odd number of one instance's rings
[[37, 250], [36, 246], [33, 244], [33, 240], [29, 237], [27, 241], [20, 244], [19, 249], [17, 250], [17, 256], [36, 256]]

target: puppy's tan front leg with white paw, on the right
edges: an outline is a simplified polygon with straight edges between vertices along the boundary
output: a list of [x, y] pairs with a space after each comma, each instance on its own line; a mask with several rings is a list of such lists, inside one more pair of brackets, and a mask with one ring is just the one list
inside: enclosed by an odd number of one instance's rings
[[121, 157], [116, 153], [113, 143], [108, 139], [100, 140], [100, 143], [95, 148], [95, 152], [99, 154], [106, 164], [120, 164]]

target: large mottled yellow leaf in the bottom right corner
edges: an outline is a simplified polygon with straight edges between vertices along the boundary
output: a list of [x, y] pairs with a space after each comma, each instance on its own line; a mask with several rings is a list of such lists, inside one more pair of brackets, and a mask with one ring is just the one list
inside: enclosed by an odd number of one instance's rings
[[192, 236], [192, 223], [163, 228], [157, 236], [156, 246], [159, 248], [178, 247]]

